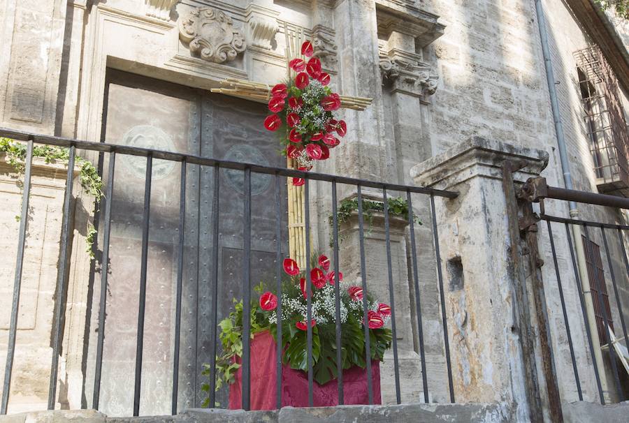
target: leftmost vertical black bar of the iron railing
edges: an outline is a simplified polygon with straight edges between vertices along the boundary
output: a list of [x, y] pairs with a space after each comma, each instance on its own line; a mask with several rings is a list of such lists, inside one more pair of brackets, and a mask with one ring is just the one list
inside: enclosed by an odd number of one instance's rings
[[29, 195], [31, 193], [31, 165], [33, 162], [33, 140], [27, 143], [27, 156], [24, 163], [24, 186], [22, 187], [22, 214], [20, 215], [20, 230], [17, 232], [17, 261], [15, 263], [15, 279], [13, 281], [13, 303], [11, 304], [11, 320], [9, 339], [6, 350], [6, 364], [4, 367], [4, 383], [2, 387], [2, 404], [0, 415], [6, 414], [8, 408], [9, 389], [11, 386], [11, 372], [13, 371], [13, 355], [15, 355], [15, 336], [17, 334], [17, 311], [20, 308], [20, 288], [22, 288], [22, 266], [24, 265], [24, 244], [29, 220]]

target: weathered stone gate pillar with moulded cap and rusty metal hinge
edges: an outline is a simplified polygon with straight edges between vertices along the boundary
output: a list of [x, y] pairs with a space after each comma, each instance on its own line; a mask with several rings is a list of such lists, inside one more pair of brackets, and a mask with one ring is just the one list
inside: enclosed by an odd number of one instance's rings
[[460, 193], [435, 199], [456, 401], [505, 402], [516, 408], [518, 421], [528, 422], [539, 392], [530, 387], [534, 357], [532, 366], [524, 364], [533, 332], [521, 318], [528, 304], [518, 292], [526, 292], [526, 276], [512, 260], [519, 245], [510, 240], [514, 222], [503, 194], [507, 161], [523, 165], [514, 180], [526, 181], [546, 167], [548, 154], [472, 138], [411, 174], [418, 185]]

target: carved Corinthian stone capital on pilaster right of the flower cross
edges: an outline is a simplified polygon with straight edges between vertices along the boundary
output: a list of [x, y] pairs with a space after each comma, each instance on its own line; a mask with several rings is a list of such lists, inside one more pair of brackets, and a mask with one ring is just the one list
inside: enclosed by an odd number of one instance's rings
[[427, 64], [405, 57], [409, 55], [396, 51], [386, 54], [381, 51], [379, 59], [382, 82], [389, 80], [393, 89], [398, 91], [424, 96], [435, 94], [439, 77], [432, 74], [431, 67]]

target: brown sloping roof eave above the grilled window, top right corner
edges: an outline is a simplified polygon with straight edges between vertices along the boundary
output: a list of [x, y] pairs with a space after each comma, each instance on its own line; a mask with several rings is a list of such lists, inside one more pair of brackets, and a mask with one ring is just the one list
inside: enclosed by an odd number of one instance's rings
[[600, 47], [625, 91], [629, 91], [629, 52], [605, 12], [592, 0], [565, 0], [581, 27]]

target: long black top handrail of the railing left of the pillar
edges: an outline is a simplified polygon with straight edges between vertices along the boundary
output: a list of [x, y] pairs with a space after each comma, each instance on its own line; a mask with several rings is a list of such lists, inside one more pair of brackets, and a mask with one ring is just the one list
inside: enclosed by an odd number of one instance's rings
[[293, 170], [287, 168], [273, 168], [271, 166], [256, 165], [254, 163], [241, 163], [235, 161], [219, 160], [217, 158], [207, 158], [195, 156], [193, 154], [175, 153], [173, 151], [163, 151], [154, 149], [145, 149], [141, 147], [129, 147], [126, 145], [108, 144], [106, 142], [80, 141], [72, 138], [52, 137], [49, 135], [41, 135], [36, 133], [26, 133], [22, 131], [13, 131], [6, 128], [0, 128], [0, 137], [11, 138], [13, 140], [28, 141], [33, 140], [38, 144], [49, 144], [57, 147], [76, 147], [78, 149], [91, 151], [113, 152], [118, 154], [129, 154], [131, 156], [152, 156], [153, 159], [169, 160], [169, 161], [187, 161], [193, 165], [219, 166], [224, 169], [245, 170], [250, 169], [254, 173], [263, 173], [266, 175], [279, 175], [284, 177], [296, 177], [315, 180], [336, 182], [337, 184], [360, 185], [369, 188], [386, 188], [389, 191], [410, 191], [411, 193], [436, 195], [444, 198], [456, 198], [458, 193], [454, 191], [445, 191], [433, 188], [423, 188], [420, 186], [407, 186], [400, 184], [386, 184], [384, 182], [369, 181], [367, 179], [342, 177], [338, 175], [328, 175], [326, 173], [302, 172], [301, 170]]

